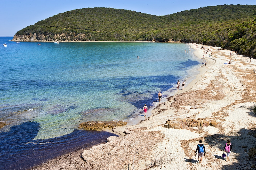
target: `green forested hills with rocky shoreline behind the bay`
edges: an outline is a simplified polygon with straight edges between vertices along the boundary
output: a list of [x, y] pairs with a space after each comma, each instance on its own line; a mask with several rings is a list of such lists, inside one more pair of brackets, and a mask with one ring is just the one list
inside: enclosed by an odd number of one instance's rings
[[256, 55], [256, 6], [207, 6], [156, 16], [113, 8], [60, 13], [18, 31], [13, 41], [204, 42]]

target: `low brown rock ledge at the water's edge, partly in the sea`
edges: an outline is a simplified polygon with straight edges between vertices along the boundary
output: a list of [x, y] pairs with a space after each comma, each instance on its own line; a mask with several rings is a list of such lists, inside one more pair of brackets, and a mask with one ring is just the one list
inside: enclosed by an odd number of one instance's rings
[[114, 128], [116, 126], [124, 126], [126, 125], [127, 122], [123, 122], [123, 121], [118, 121], [118, 122], [106, 122], [106, 121], [99, 121], [99, 122], [95, 122], [95, 121], [90, 121], [90, 122], [83, 122], [79, 124], [79, 128], [83, 128], [86, 130], [97, 130], [97, 129], [101, 129], [101, 128]]

